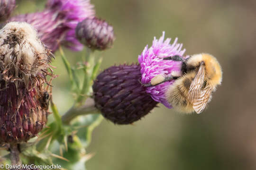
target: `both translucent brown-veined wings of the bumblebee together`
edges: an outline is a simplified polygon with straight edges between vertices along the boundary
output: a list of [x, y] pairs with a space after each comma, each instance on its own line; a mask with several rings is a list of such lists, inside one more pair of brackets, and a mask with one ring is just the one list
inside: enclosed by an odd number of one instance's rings
[[193, 103], [193, 109], [197, 113], [201, 113], [205, 108], [207, 102], [210, 99], [212, 88], [210, 85], [207, 85], [202, 91], [202, 85], [204, 83], [205, 76], [205, 67], [203, 64], [200, 65], [200, 68], [192, 81], [188, 93], [188, 99]]

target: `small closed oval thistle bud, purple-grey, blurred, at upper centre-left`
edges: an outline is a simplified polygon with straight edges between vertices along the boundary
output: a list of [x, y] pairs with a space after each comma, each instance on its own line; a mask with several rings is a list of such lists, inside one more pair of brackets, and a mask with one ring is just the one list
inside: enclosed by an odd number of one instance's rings
[[76, 26], [76, 37], [94, 50], [110, 48], [115, 40], [113, 26], [97, 17], [86, 18]]

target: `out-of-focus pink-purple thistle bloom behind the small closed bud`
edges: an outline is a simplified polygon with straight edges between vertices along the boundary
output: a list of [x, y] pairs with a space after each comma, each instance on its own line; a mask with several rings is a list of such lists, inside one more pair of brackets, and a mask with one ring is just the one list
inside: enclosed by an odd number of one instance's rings
[[48, 0], [44, 11], [12, 17], [10, 21], [34, 26], [40, 40], [53, 52], [60, 44], [81, 51], [83, 45], [75, 38], [75, 27], [83, 19], [93, 17], [94, 13], [90, 0]]

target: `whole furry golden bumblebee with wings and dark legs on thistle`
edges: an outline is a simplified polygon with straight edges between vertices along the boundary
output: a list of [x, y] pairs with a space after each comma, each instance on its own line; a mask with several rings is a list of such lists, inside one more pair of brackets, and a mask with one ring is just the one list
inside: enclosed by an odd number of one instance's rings
[[142, 85], [154, 86], [176, 79], [165, 92], [167, 101], [177, 111], [201, 113], [210, 102], [212, 92], [222, 81], [218, 60], [207, 53], [195, 54], [188, 59], [177, 55], [163, 59], [182, 61], [182, 76], [157, 75], [151, 79], [150, 83]]

